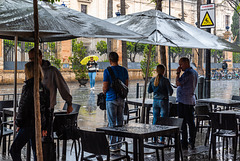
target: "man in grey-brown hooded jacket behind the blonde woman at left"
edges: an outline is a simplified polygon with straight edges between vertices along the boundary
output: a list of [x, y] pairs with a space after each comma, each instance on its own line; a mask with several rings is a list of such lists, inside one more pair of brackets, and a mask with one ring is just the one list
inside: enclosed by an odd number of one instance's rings
[[[28, 52], [29, 60], [34, 61], [34, 48], [32, 48]], [[60, 71], [52, 66], [48, 60], [42, 59], [42, 52], [39, 50], [39, 64], [42, 66], [43, 70], [43, 80], [42, 83], [45, 85], [50, 91], [50, 110], [51, 110], [51, 120], [50, 127], [48, 128], [48, 134], [52, 137], [52, 121], [53, 121], [53, 112], [54, 106], [57, 104], [57, 89], [61, 95], [61, 97], [67, 102], [67, 113], [72, 112], [72, 96], [70, 94], [70, 90], [68, 88], [67, 83], [65, 82]]]

